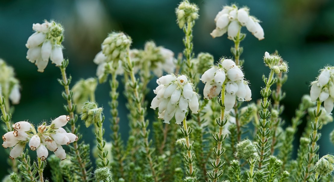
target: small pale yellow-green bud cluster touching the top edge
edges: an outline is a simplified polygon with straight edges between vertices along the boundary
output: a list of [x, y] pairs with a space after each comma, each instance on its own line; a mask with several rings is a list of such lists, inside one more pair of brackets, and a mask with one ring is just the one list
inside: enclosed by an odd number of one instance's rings
[[196, 4], [189, 3], [188, 0], [182, 1], [176, 8], [177, 23], [183, 28], [186, 22], [192, 22], [198, 18], [198, 7]]

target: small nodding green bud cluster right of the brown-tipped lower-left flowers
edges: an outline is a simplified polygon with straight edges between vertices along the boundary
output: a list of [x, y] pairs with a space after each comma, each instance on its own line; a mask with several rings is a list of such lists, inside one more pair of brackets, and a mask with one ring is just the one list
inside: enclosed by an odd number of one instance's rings
[[85, 121], [86, 127], [102, 120], [102, 107], [98, 108], [95, 102], [86, 102], [81, 111], [81, 120]]

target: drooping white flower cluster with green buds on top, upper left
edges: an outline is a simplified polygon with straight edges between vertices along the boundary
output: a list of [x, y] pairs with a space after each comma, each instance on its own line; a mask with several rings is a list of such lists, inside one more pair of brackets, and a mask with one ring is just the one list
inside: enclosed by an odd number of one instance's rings
[[35, 63], [39, 72], [43, 72], [49, 58], [56, 66], [63, 61], [61, 41], [64, 29], [59, 23], [45, 21], [42, 24], [32, 25], [35, 31], [27, 40], [25, 46], [28, 48], [27, 59]]

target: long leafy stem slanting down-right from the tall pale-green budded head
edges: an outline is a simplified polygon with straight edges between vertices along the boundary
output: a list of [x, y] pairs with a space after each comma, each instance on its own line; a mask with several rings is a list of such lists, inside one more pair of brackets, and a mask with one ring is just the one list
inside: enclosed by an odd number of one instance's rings
[[146, 127], [148, 126], [148, 121], [145, 121], [145, 118], [144, 118], [144, 108], [142, 107], [142, 94], [139, 93], [138, 91], [138, 87], [139, 87], [139, 83], [135, 77], [135, 73], [133, 71], [133, 67], [132, 67], [132, 62], [130, 60], [130, 56], [129, 56], [129, 51], [130, 51], [130, 48], [128, 47], [128, 50], [127, 50], [127, 71], [129, 72], [129, 75], [130, 75], [130, 86], [133, 88], [133, 91], [134, 91], [134, 102], [137, 106], [137, 112], [139, 114], [139, 124], [141, 125], [141, 128], [142, 128], [142, 137], [144, 138], [144, 148], [145, 148], [145, 151], [146, 151], [146, 157], [149, 161], [149, 165], [150, 165], [150, 169], [151, 169], [151, 172], [152, 172], [152, 177], [154, 179], [155, 182], [158, 181], [158, 177], [156, 175], [156, 172], [155, 172], [155, 169], [154, 169], [154, 165], [153, 165], [153, 160], [152, 160], [152, 156], [151, 156], [151, 149], [150, 149], [150, 144], [149, 144], [149, 141], [148, 141], [148, 135], [149, 135], [149, 132], [146, 130]]

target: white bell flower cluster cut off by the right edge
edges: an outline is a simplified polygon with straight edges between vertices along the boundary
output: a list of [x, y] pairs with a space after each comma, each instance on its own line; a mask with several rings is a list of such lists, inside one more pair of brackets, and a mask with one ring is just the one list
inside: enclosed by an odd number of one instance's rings
[[331, 114], [334, 107], [334, 67], [327, 66], [322, 69], [317, 80], [311, 85], [311, 100], [319, 99], [320, 102], [324, 102], [327, 114]]

